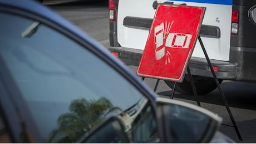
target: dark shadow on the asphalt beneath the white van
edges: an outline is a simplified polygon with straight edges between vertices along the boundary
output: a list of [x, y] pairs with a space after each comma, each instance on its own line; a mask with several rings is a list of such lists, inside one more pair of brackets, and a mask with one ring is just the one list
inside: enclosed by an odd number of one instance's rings
[[[230, 107], [237, 107], [241, 109], [256, 110], [256, 84], [244, 83], [238, 81], [230, 81], [228, 83], [221, 84], [221, 89], [225, 94]], [[162, 91], [159, 95], [171, 96], [171, 91]], [[175, 92], [174, 97], [179, 99], [196, 101], [194, 95], [183, 95]], [[199, 96], [200, 102], [206, 102], [215, 105], [224, 105], [219, 89], [215, 89], [206, 95]]]

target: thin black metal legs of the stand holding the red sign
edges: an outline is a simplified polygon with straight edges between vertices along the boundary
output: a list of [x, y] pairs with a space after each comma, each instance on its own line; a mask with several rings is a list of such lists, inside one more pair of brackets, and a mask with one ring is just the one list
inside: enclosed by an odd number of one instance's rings
[[[219, 80], [218, 80], [218, 78], [217, 78], [217, 76], [216, 76], [216, 74], [215, 74], [215, 72], [214, 72], [214, 70], [213, 70], [213, 66], [211, 65], [210, 59], [209, 59], [209, 57], [208, 57], [208, 54], [206, 53], [206, 50], [205, 50], [205, 48], [204, 48], [204, 44], [203, 44], [203, 42], [202, 42], [202, 40], [201, 40], [200, 35], [198, 36], [198, 40], [199, 40], [199, 43], [200, 43], [200, 45], [201, 45], [201, 48], [203, 49], [203, 52], [204, 52], [205, 58], [206, 58], [206, 60], [207, 60], [207, 62], [208, 62], [208, 65], [209, 65], [209, 67], [210, 67], [211, 73], [213, 74], [213, 78], [214, 78], [214, 80], [215, 80], [215, 83], [216, 83], [216, 85], [218, 86], [218, 89], [219, 89], [219, 92], [220, 92], [220, 95], [221, 95], [221, 99], [223, 100], [223, 102], [224, 102], [224, 104], [225, 104], [225, 107], [226, 107], [226, 109], [227, 109], [227, 111], [228, 111], [228, 114], [229, 114], [230, 119], [232, 120], [232, 123], [233, 123], [233, 126], [232, 126], [232, 127], [235, 128], [235, 132], [237, 132], [237, 136], [238, 136], [239, 140], [243, 141], [243, 140], [242, 140], [242, 136], [240, 135], [240, 132], [239, 132], [239, 130], [238, 130], [237, 124], [235, 124], [235, 120], [234, 120], [234, 117], [233, 117], [233, 115], [232, 115], [232, 112], [231, 112], [230, 109], [229, 109], [228, 101], [227, 101], [227, 99], [226, 99], [226, 97], [225, 97], [225, 95], [224, 95], [223, 90], [221, 89]], [[193, 92], [194, 92], [194, 95], [196, 96], [196, 103], [198, 104], [198, 106], [201, 106], [201, 105], [200, 105], [200, 101], [199, 101], [199, 97], [198, 97], [198, 93], [197, 93], [196, 88], [195, 88], [195, 83], [194, 83], [194, 80], [193, 80], [192, 75], [191, 75], [191, 73], [190, 73], [189, 66], [187, 67], [187, 71], [188, 71], [188, 75], [189, 75], [189, 79], [190, 79], [190, 84], [191, 84], [192, 90], [193, 90]], [[144, 79], [145, 79], [145, 77], [141, 77], [141, 80], [144, 80]], [[156, 81], [156, 85], [155, 85], [154, 91], [156, 91], [156, 88], [157, 88], [157, 86], [158, 86], [158, 84], [159, 84], [159, 80], [160, 80], [160, 79], [157, 79], [157, 81]], [[173, 91], [171, 92], [171, 97], [170, 97], [170, 99], [173, 99], [173, 97], [174, 97], [175, 88], [176, 88], [176, 82], [174, 83], [174, 88], [173, 88]]]

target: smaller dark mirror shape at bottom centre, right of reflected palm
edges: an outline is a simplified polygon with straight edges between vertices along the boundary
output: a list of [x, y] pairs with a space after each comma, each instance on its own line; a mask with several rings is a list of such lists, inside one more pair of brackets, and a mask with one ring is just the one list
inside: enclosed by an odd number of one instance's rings
[[81, 143], [130, 143], [124, 124], [113, 116], [95, 128]]

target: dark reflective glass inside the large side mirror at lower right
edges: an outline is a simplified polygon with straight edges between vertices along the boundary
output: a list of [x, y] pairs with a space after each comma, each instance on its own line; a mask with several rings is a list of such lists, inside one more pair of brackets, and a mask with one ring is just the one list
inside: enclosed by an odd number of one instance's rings
[[168, 128], [174, 143], [200, 142], [206, 133], [210, 122], [209, 116], [188, 107], [171, 104], [168, 105], [170, 115]]

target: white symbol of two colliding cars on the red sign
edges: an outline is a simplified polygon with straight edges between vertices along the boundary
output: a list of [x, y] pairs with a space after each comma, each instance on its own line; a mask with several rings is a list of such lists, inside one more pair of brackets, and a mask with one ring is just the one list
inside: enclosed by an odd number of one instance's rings
[[189, 44], [192, 38], [191, 34], [169, 33], [173, 22], [171, 22], [171, 24], [167, 22], [165, 22], [165, 24], [161, 23], [154, 28], [155, 58], [156, 60], [160, 60], [165, 56], [165, 64], [171, 62], [170, 52], [166, 48], [187, 49], [189, 48]]

